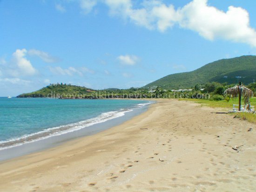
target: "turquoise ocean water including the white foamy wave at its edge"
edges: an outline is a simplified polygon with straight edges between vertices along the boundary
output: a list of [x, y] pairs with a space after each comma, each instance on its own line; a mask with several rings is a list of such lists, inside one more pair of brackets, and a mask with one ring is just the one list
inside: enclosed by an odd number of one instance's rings
[[86, 129], [150, 103], [124, 99], [0, 98], [0, 150]]

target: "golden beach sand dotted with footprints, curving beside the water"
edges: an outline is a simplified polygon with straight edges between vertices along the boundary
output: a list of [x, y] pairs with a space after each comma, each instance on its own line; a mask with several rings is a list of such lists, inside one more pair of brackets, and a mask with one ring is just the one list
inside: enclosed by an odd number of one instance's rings
[[120, 126], [1, 162], [0, 191], [253, 192], [256, 125], [219, 112], [160, 99]]

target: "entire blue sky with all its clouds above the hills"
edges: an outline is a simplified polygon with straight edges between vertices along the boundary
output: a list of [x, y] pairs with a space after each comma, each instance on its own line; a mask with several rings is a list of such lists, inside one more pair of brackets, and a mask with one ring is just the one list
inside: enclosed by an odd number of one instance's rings
[[0, 0], [0, 96], [141, 87], [256, 55], [255, 0]]

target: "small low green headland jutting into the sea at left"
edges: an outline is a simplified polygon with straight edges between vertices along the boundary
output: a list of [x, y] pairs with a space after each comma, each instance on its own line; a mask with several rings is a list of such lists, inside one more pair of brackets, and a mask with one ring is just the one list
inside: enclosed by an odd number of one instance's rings
[[43, 87], [38, 91], [32, 93], [23, 93], [17, 97], [51, 97], [55, 94], [54, 97], [57, 97], [56, 94], [63, 95], [63, 97], [73, 97], [69, 94], [74, 94], [74, 97], [77, 97], [79, 94], [87, 95], [88, 93], [94, 92], [93, 89], [88, 89], [83, 86], [72, 86], [66, 84], [51, 84], [49, 86]]

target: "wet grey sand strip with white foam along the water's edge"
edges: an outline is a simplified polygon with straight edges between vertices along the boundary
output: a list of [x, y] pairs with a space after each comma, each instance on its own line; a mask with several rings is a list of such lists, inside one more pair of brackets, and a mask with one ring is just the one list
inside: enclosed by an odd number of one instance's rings
[[[85, 124], [84, 127], [79, 128], [77, 130], [67, 129], [65, 131], [57, 132], [57, 134], [46, 135], [45, 137], [41, 137], [37, 139], [35, 138], [31, 141], [18, 143], [17, 145], [7, 146], [6, 148], [0, 148], [0, 162], [4, 160], [16, 158], [19, 156], [27, 155], [33, 152], [39, 152], [55, 146], [59, 146], [69, 140], [86, 137], [86, 136], [93, 135], [98, 132], [107, 130], [113, 126], [118, 126], [123, 122], [129, 119], [132, 119], [136, 115], [147, 111], [148, 106], [155, 102], [151, 100], [148, 100], [148, 101], [150, 102], [145, 104], [144, 103], [139, 104], [140, 106], [138, 107], [128, 108], [127, 110], [123, 110], [123, 111], [121, 110], [115, 111], [116, 114], [117, 113], [123, 113], [123, 114], [117, 115], [116, 117], [111, 117], [110, 119], [99, 119], [99, 116], [97, 116], [94, 119], [98, 119], [97, 120], [98, 122], [96, 121], [89, 126]], [[111, 113], [111, 112], [106, 112], [106, 113]], [[85, 122], [88, 120], [90, 119], [85, 119], [80, 122]], [[73, 124], [78, 124], [80, 122], [73, 123]], [[73, 125], [73, 124], [69, 124], [69, 125]], [[68, 126], [68, 125], [64, 125], [64, 126]], [[48, 128], [48, 129], [53, 129], [53, 128]], [[36, 134], [38, 133], [37, 132], [33, 133], [33, 135], [36, 135]]]

